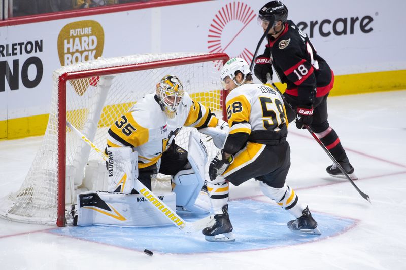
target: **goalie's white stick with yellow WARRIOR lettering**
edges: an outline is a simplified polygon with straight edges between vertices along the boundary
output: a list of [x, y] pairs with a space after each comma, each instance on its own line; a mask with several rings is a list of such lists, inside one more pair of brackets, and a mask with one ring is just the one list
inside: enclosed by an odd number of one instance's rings
[[[93, 148], [96, 152], [100, 153], [101, 158], [107, 161], [109, 158], [107, 155], [100, 149], [97, 148], [85, 135], [83, 135], [78, 129], [76, 129], [71, 123], [66, 121], [66, 126], [68, 126], [71, 130], [73, 130], [78, 136], [81, 137], [91, 148]], [[175, 211], [173, 211], [169, 206], [167, 206], [164, 202], [162, 202], [158, 196], [156, 196], [151, 190], [149, 190], [143, 183], [141, 183], [138, 179], [136, 179], [136, 184], [134, 185], [134, 189], [136, 189], [146, 201], [150, 202], [155, 208], [164, 215], [168, 220], [170, 220], [174, 225], [176, 225], [179, 229], [185, 230], [187, 233], [197, 232], [198, 230], [202, 230], [205, 227], [209, 227], [214, 222], [214, 215], [207, 216], [205, 218], [199, 219], [194, 222], [187, 222], [183, 220]]]

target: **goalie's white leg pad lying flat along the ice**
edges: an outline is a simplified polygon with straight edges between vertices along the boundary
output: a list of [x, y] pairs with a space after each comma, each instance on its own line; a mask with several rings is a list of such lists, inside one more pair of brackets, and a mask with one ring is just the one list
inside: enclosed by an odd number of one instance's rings
[[[163, 193], [158, 197], [175, 209], [174, 193]], [[141, 194], [88, 191], [78, 194], [77, 199], [78, 226], [153, 227], [173, 224]]]

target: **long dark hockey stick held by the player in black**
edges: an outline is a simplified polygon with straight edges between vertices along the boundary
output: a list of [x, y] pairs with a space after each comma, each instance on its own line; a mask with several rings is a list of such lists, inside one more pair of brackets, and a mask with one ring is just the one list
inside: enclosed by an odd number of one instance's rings
[[[258, 49], [262, 44], [263, 39], [265, 38], [266, 34], [269, 32], [270, 27], [273, 25], [273, 23], [269, 23], [268, 27], [266, 28], [266, 31], [264, 32], [264, 34], [262, 35], [262, 37], [260, 38], [258, 45], [257, 45], [257, 49], [255, 50], [255, 53], [252, 57], [252, 62], [250, 65], [250, 70], [252, 70], [253, 66], [254, 66], [254, 62], [255, 62], [255, 58], [257, 56], [258, 53]], [[282, 95], [281, 91], [278, 89], [278, 87], [274, 84], [274, 82], [271, 80], [270, 76], [267, 76], [268, 81], [270, 82], [270, 85], [272, 85], [272, 87], [278, 91], [278, 93], [281, 95], [284, 104], [287, 104], [288, 107], [294, 112], [295, 110], [293, 109], [292, 105], [290, 105], [286, 99], [285, 96]], [[313, 132], [313, 130], [308, 126], [308, 125], [304, 125], [304, 127], [309, 131], [309, 133], [312, 135], [312, 137], [318, 142], [318, 144], [320, 145], [321, 148], [323, 148], [323, 150], [326, 152], [327, 156], [334, 162], [334, 164], [337, 166], [337, 168], [340, 169], [340, 171], [344, 174], [345, 178], [347, 178], [348, 181], [350, 181], [350, 183], [352, 184], [352, 186], [358, 191], [358, 193], [362, 196], [362, 198], [364, 198], [365, 200], [367, 200], [370, 204], [371, 200], [369, 199], [369, 196], [367, 194], [365, 194], [364, 192], [362, 192], [358, 186], [356, 184], [354, 184], [353, 180], [351, 180], [350, 176], [348, 175], [348, 173], [343, 169], [343, 167], [335, 160], [335, 158], [331, 155], [330, 151], [326, 148], [326, 146], [323, 144], [323, 142], [316, 136], [316, 134]]]

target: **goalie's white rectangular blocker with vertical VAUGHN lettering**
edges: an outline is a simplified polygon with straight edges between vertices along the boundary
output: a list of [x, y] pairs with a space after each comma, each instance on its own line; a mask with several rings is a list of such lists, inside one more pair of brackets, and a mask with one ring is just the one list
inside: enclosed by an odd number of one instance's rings
[[107, 147], [109, 192], [131, 193], [138, 178], [138, 153], [129, 147]]

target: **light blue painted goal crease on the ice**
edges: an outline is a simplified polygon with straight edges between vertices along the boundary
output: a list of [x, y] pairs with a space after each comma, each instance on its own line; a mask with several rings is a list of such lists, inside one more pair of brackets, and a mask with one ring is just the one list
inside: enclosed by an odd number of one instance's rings
[[[176, 226], [153, 228], [117, 228], [107, 226], [66, 227], [49, 233], [79, 238], [91, 242], [124, 247], [135, 251], [147, 249], [154, 253], [197, 254], [208, 252], [250, 251], [321, 241], [353, 228], [358, 220], [313, 212], [322, 236], [295, 234], [286, 223], [293, 217], [275, 204], [256, 200], [232, 200], [229, 214], [236, 235], [235, 242], [213, 243], [202, 238], [201, 232], [184, 233]], [[188, 221], [204, 215], [183, 217]], [[176, 243], [174, 245], [174, 243]]]

